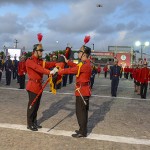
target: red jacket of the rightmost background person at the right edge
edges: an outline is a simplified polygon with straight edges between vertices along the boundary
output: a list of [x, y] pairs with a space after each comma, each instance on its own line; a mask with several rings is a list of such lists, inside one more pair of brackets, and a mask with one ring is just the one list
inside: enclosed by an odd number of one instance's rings
[[141, 83], [148, 83], [150, 77], [150, 70], [147, 67], [141, 68], [140, 81]]

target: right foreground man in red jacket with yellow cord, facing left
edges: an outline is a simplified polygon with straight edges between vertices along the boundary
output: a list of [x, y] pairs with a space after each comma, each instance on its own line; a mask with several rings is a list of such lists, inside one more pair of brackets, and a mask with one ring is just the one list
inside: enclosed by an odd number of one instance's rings
[[80, 138], [87, 136], [87, 122], [88, 122], [88, 109], [89, 97], [91, 96], [90, 90], [90, 77], [91, 77], [91, 64], [88, 59], [91, 54], [91, 48], [83, 45], [78, 53], [78, 58], [81, 62], [77, 65], [72, 61], [65, 59], [65, 62], [70, 68], [65, 68], [58, 71], [59, 75], [63, 74], [76, 74], [76, 116], [79, 124], [79, 130], [72, 137]]

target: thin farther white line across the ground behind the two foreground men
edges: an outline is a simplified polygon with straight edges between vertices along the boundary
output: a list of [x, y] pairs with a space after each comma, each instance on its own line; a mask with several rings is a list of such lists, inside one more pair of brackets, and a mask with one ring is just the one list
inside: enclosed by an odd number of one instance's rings
[[[14, 91], [21, 91], [24, 90], [26, 91], [26, 89], [17, 89], [17, 88], [5, 88], [5, 87], [0, 87], [0, 89], [2, 90], [14, 90]], [[49, 91], [43, 91], [44, 93], [50, 93]], [[74, 95], [74, 93], [60, 93], [57, 92], [58, 95]], [[104, 96], [104, 95], [92, 95], [91, 97], [103, 97], [103, 98], [114, 98], [114, 99], [132, 99], [132, 100], [138, 100], [138, 101], [150, 101], [150, 99], [141, 99], [141, 98], [132, 98], [132, 97], [111, 97], [111, 96]]]

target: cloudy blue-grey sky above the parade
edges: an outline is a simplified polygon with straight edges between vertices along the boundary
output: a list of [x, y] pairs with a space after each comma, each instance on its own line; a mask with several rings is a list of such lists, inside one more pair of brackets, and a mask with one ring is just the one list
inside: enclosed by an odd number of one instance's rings
[[95, 51], [116, 45], [140, 50], [136, 41], [150, 42], [149, 6], [149, 0], [0, 0], [0, 48], [17, 40], [18, 48], [32, 51], [42, 33], [48, 53], [67, 45], [79, 49], [86, 35]]

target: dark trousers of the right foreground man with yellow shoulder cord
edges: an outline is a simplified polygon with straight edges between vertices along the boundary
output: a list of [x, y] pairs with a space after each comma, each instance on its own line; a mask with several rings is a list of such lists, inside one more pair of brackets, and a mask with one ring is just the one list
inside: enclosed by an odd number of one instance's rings
[[76, 96], [76, 116], [79, 124], [79, 132], [86, 136], [87, 135], [87, 123], [88, 123], [88, 110], [89, 110], [89, 97], [83, 97], [86, 104], [84, 104], [81, 96]]

